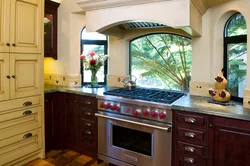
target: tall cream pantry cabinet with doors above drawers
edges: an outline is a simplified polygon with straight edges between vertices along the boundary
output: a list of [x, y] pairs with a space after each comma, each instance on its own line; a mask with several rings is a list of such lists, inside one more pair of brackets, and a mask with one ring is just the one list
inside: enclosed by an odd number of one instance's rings
[[44, 0], [0, 0], [0, 165], [44, 156], [43, 13]]

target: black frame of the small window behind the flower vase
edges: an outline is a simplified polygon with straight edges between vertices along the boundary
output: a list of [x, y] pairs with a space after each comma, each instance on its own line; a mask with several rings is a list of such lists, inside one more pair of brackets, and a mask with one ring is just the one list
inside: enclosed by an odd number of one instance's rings
[[[87, 40], [82, 39], [82, 33], [85, 30], [86, 27], [83, 27], [81, 33], [80, 33], [80, 48], [81, 53], [83, 52], [83, 45], [103, 45], [104, 46], [104, 54], [108, 53], [108, 37], [106, 36], [106, 40]], [[108, 71], [108, 61], [106, 60], [104, 62], [104, 82], [99, 82], [99, 85], [107, 85], [107, 71]], [[81, 72], [81, 78], [82, 78], [82, 86], [90, 85], [90, 82], [84, 82], [84, 65], [80, 61], [80, 72]]]

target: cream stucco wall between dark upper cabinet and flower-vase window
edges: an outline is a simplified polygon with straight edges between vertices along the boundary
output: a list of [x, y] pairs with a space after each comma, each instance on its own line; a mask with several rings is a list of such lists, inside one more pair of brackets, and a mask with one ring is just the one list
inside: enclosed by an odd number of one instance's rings
[[45, 58], [45, 73], [80, 74], [80, 32], [85, 25], [85, 15], [76, 1], [61, 1], [58, 8], [58, 60]]

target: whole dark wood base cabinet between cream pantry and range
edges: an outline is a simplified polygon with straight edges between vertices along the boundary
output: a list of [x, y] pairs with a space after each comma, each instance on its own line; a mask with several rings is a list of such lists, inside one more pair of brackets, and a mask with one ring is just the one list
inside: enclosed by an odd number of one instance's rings
[[97, 99], [68, 93], [45, 94], [45, 149], [72, 149], [97, 157]]

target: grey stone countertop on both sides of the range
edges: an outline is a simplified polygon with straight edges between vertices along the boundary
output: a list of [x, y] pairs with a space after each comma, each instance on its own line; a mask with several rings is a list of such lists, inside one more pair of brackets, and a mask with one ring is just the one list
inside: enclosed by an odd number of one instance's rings
[[[103, 92], [118, 87], [103, 88], [87, 88], [87, 87], [63, 87], [56, 85], [44, 85], [44, 92], [66, 92], [78, 95], [86, 96], [98, 96], [103, 95]], [[234, 119], [248, 120], [250, 121], [250, 109], [243, 108], [241, 103], [235, 102], [235, 105], [223, 106], [214, 103], [208, 103], [208, 97], [185, 95], [172, 105], [172, 110], [188, 111], [194, 113], [203, 113], [208, 115], [216, 115], [221, 117], [229, 117]]]

